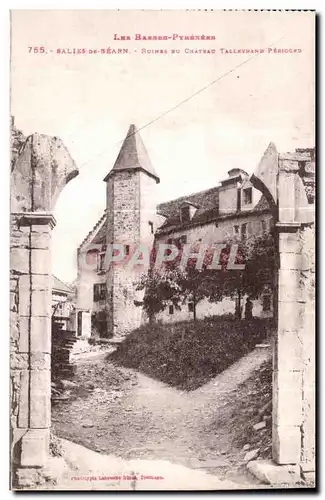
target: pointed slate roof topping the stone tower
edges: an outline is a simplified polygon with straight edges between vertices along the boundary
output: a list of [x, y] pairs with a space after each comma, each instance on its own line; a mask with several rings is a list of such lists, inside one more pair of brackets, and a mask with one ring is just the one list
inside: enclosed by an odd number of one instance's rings
[[104, 181], [107, 181], [116, 171], [138, 169], [143, 170], [159, 183], [160, 179], [151, 164], [140, 134], [135, 125], [130, 125], [114, 166]]

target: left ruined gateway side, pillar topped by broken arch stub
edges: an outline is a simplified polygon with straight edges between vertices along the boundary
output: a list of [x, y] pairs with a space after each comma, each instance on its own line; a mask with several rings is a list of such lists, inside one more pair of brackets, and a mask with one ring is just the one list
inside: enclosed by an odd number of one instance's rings
[[63, 142], [33, 134], [11, 172], [10, 376], [12, 484], [31, 487], [49, 456], [52, 210], [78, 169]]

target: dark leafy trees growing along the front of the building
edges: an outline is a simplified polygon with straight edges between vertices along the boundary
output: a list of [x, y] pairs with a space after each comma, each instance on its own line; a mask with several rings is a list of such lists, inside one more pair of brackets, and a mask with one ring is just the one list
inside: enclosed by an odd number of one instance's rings
[[[196, 319], [197, 304], [205, 298], [218, 302], [223, 297], [236, 297], [240, 307], [244, 295], [254, 299], [265, 287], [273, 288], [275, 242], [272, 234], [241, 241], [229, 239], [225, 243], [219, 257], [219, 270], [209, 269], [214, 258], [212, 248], [206, 251], [200, 269], [196, 269], [196, 259], [189, 259], [186, 267], [182, 267], [180, 253], [175, 261], [164, 263], [160, 269], [152, 268], [148, 275], [142, 276], [137, 290], [145, 290], [141, 305], [150, 320], [169, 305], [179, 309], [187, 301], [193, 303]], [[235, 263], [245, 264], [243, 270], [228, 268], [233, 245], [238, 247]]]

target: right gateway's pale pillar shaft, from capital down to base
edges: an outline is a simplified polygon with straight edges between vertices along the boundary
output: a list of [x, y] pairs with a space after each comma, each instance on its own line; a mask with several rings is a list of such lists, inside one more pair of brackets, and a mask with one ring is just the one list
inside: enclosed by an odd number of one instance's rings
[[301, 453], [302, 343], [299, 336], [302, 307], [299, 303], [300, 224], [278, 223], [280, 269], [278, 272], [278, 332], [273, 354], [273, 459], [278, 464], [298, 464]]

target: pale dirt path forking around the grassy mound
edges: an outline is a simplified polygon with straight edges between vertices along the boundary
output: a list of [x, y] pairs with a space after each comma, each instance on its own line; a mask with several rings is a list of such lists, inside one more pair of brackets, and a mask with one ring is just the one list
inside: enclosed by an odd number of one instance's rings
[[[232, 445], [227, 421], [234, 411], [236, 388], [269, 356], [269, 349], [255, 349], [189, 393], [103, 359], [82, 363], [78, 384], [89, 385], [91, 380], [94, 386], [90, 384], [91, 392], [54, 406], [54, 432], [123, 459], [168, 460], [241, 484], [252, 482], [243, 467], [244, 454]], [[123, 381], [114, 390], [107, 382], [116, 371]]]

